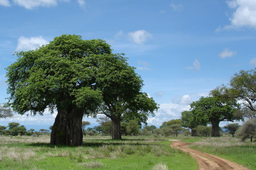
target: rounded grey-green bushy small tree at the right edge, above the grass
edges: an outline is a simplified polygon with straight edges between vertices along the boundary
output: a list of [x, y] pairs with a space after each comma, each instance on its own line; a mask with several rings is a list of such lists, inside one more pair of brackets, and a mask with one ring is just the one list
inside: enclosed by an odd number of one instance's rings
[[245, 121], [242, 126], [237, 130], [236, 135], [242, 137], [243, 142], [247, 138], [250, 138], [252, 142], [252, 138], [256, 137], [256, 119]]

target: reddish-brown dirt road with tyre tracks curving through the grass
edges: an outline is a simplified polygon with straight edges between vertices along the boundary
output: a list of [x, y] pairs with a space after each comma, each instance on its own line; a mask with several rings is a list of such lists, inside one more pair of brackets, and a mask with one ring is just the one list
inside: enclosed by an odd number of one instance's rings
[[188, 148], [190, 144], [181, 142], [180, 140], [171, 141], [171, 147], [180, 148], [186, 152], [189, 152], [189, 154], [196, 159], [199, 165], [199, 170], [249, 170], [248, 168], [229, 160], [190, 149]]

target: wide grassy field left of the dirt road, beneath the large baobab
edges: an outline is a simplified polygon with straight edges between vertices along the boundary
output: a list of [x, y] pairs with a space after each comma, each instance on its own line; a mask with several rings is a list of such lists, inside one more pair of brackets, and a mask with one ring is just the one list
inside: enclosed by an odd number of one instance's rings
[[49, 142], [46, 135], [0, 136], [0, 169], [198, 169], [195, 159], [169, 147], [164, 137], [86, 136], [81, 147]]

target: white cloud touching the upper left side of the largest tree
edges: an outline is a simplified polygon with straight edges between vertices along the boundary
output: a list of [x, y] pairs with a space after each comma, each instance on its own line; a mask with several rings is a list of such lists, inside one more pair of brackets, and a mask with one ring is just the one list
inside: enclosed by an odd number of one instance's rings
[[44, 44], [48, 44], [49, 41], [43, 39], [42, 36], [39, 37], [30, 37], [30, 38], [26, 38], [21, 36], [18, 39], [18, 45], [16, 48], [16, 51], [27, 51], [27, 50], [32, 50], [32, 49], [36, 49], [39, 46], [42, 46]]

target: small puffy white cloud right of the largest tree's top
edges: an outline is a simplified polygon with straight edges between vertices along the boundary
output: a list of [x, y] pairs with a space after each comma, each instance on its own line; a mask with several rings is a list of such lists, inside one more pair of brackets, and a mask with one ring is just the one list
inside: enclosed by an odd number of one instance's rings
[[145, 30], [138, 30], [138, 31], [128, 33], [128, 36], [131, 41], [137, 44], [142, 44], [143, 42], [147, 41], [148, 38], [152, 37], [152, 35]]

